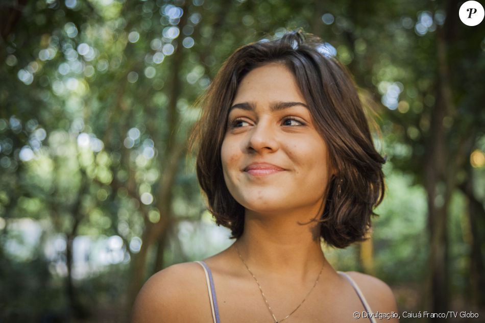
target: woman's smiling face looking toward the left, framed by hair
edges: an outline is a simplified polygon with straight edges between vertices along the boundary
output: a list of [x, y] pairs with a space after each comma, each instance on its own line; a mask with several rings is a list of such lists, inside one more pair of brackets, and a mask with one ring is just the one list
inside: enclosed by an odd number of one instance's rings
[[236, 92], [221, 148], [235, 200], [261, 213], [321, 206], [329, 178], [327, 147], [295, 77], [270, 63], [250, 71]]

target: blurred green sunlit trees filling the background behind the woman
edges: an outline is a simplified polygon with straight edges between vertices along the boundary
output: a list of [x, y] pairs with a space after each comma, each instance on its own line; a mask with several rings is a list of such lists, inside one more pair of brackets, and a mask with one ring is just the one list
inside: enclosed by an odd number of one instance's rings
[[485, 321], [485, 28], [461, 4], [2, 2], [0, 321], [127, 321], [154, 272], [229, 246], [187, 151], [196, 100], [237, 47], [297, 28], [350, 69], [387, 156], [371, 238], [330, 262], [401, 312]]

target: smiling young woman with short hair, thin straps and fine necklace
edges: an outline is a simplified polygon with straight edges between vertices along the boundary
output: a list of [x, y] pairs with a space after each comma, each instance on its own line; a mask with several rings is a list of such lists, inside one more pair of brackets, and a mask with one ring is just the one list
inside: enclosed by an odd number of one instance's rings
[[398, 321], [385, 283], [336, 271], [321, 249], [365, 239], [384, 193], [353, 81], [326, 53], [293, 32], [223, 65], [196, 130], [197, 175], [236, 241], [155, 274], [132, 322]]

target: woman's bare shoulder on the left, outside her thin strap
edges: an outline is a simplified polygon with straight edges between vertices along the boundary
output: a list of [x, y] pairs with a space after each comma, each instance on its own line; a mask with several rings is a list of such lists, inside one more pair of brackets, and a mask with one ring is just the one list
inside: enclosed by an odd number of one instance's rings
[[207, 289], [203, 268], [195, 262], [169, 266], [141, 288], [132, 310], [132, 323], [185, 322], [188, 304], [197, 307]]

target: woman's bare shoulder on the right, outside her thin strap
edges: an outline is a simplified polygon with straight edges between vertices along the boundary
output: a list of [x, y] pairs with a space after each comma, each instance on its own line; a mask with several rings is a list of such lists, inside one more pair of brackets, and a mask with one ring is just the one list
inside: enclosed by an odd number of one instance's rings
[[[347, 274], [359, 286], [366, 297], [371, 310], [379, 313], [398, 313], [396, 298], [392, 289], [380, 279], [357, 271], [349, 271]], [[385, 319], [385, 318], [384, 318]], [[398, 322], [397, 318], [385, 319], [386, 322]]]

